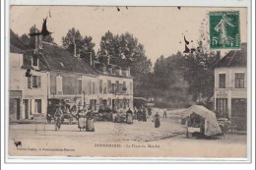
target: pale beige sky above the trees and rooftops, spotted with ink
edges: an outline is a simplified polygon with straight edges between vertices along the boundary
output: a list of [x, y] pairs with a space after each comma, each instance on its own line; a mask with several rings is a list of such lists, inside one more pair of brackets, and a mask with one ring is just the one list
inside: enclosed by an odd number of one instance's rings
[[[41, 29], [47, 17], [47, 28], [58, 45], [70, 28], [79, 29], [83, 36], [93, 37], [99, 48], [101, 36], [110, 30], [114, 34], [132, 33], [144, 45], [146, 55], [153, 63], [160, 55], [168, 57], [184, 51], [183, 35], [196, 46], [199, 29], [207, 31], [208, 13], [212, 11], [239, 11], [241, 42], [247, 41], [246, 8], [205, 7], [96, 7], [96, 6], [11, 6], [10, 28], [22, 35], [32, 26]], [[181, 42], [181, 43], [180, 43]]]

